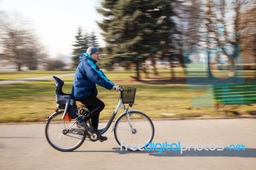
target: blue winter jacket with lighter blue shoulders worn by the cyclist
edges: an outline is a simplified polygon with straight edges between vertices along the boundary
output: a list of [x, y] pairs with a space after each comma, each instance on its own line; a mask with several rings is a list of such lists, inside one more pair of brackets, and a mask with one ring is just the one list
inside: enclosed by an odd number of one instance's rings
[[111, 89], [115, 84], [108, 80], [106, 75], [99, 69], [92, 57], [84, 52], [79, 57], [79, 65], [76, 69], [72, 87], [73, 98], [86, 98], [91, 95], [97, 96], [96, 84], [106, 89]]

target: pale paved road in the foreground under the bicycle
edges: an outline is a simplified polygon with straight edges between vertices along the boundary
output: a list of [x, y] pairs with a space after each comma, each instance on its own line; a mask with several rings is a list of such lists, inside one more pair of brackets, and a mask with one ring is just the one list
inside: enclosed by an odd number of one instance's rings
[[154, 143], [212, 143], [212, 149], [217, 143], [243, 144], [245, 151], [121, 151], [109, 129], [104, 143], [86, 141], [76, 151], [61, 152], [47, 143], [44, 123], [1, 124], [0, 169], [256, 169], [256, 119], [155, 120], [154, 125]]

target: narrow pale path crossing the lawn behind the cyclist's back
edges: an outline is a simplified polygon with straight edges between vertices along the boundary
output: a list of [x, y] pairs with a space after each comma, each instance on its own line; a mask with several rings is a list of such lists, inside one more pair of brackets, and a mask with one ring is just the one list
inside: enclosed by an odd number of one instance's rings
[[[60, 74], [60, 75], [55, 75], [56, 77], [69, 77], [73, 76], [74, 73], [68, 73], [68, 74]], [[24, 79], [11, 79], [8, 81], [0, 81], [0, 85], [4, 84], [15, 84], [15, 83], [22, 83], [22, 82], [28, 82], [28, 81], [41, 81], [45, 79], [52, 79], [52, 75], [49, 76], [43, 76], [43, 77], [29, 77], [29, 78], [24, 78]]]

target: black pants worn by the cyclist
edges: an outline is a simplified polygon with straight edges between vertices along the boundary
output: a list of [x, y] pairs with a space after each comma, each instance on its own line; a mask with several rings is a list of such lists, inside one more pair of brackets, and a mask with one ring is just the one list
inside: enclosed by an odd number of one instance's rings
[[77, 101], [84, 104], [89, 110], [88, 114], [84, 118], [84, 121], [92, 119], [92, 126], [98, 129], [100, 112], [104, 109], [105, 104], [99, 98], [90, 96], [86, 98], [77, 99]]

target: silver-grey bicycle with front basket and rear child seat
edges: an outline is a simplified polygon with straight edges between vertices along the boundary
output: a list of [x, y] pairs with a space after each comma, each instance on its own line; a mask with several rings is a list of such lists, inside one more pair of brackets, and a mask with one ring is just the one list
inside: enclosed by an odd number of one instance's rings
[[[45, 137], [54, 149], [73, 151], [79, 148], [86, 138], [92, 142], [98, 141], [99, 135], [107, 132], [111, 123], [113, 123], [112, 132], [114, 131], [116, 142], [124, 150], [141, 151], [153, 140], [155, 130], [152, 120], [143, 112], [129, 109], [134, 104], [136, 88], [120, 88], [118, 104], [106, 127], [99, 130], [93, 129], [89, 120], [88, 126], [92, 130], [84, 130], [76, 127], [76, 123], [86, 115], [88, 109], [84, 105], [76, 105], [76, 100], [72, 99], [70, 94], [63, 93], [64, 82], [61, 79], [55, 76], [53, 79], [56, 85], [58, 107], [47, 119]], [[124, 112], [115, 120], [120, 109]]]

